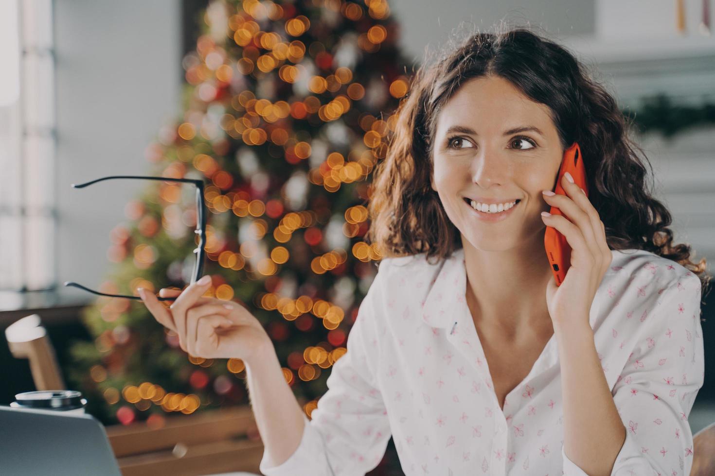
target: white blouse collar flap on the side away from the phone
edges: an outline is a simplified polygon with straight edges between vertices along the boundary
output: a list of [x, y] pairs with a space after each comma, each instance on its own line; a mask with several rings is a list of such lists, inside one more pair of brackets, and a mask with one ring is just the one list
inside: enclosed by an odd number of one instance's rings
[[425, 298], [422, 320], [433, 328], [450, 327], [456, 320], [455, 310], [465, 301], [466, 290], [464, 248], [459, 248], [443, 259], [432, 288]]

